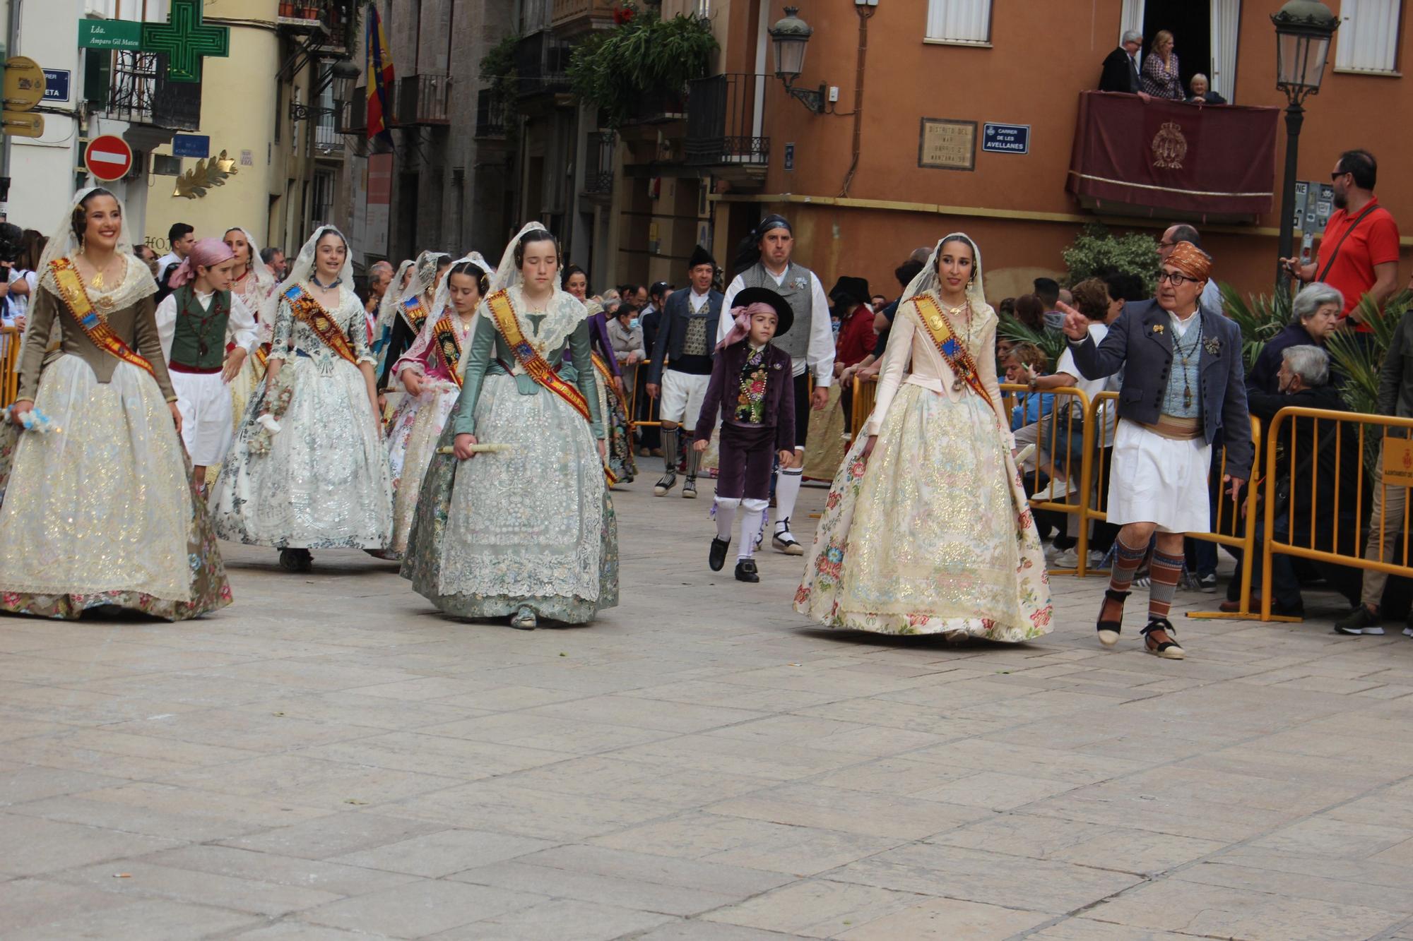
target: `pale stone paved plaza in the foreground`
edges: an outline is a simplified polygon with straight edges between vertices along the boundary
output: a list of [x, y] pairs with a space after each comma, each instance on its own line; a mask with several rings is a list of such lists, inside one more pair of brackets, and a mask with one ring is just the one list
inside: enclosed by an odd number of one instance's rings
[[0, 937], [1413, 938], [1397, 630], [1160, 661], [1142, 605], [1098, 649], [1094, 578], [1023, 647], [812, 630], [798, 560], [714, 575], [709, 500], [650, 485], [591, 627], [229, 545], [201, 622], [6, 617]]

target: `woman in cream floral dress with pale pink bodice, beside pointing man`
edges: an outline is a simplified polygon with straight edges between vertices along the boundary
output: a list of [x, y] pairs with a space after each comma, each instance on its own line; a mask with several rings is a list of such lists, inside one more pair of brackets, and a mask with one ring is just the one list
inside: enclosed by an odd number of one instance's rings
[[873, 414], [829, 487], [796, 610], [892, 634], [1050, 632], [995, 346], [981, 251], [950, 235], [903, 292]]

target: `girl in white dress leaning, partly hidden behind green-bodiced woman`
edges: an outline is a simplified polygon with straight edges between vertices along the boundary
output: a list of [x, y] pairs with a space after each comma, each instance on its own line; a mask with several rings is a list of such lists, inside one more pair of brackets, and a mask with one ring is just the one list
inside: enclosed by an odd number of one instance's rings
[[452, 263], [437, 288], [422, 332], [393, 365], [406, 390], [389, 421], [387, 463], [393, 476], [393, 541], [380, 558], [400, 560], [422, 486], [422, 475], [437, 449], [447, 415], [461, 397], [461, 357], [471, 345], [476, 307], [490, 285], [490, 266], [472, 251]]

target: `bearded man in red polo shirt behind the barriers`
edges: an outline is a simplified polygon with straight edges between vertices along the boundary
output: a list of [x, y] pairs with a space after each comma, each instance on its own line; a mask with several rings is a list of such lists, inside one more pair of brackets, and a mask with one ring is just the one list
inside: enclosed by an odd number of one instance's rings
[[1399, 274], [1399, 226], [1373, 195], [1379, 164], [1366, 150], [1340, 154], [1330, 178], [1334, 181], [1335, 213], [1320, 236], [1314, 264], [1282, 259], [1300, 281], [1324, 281], [1344, 294], [1342, 316], [1355, 329], [1369, 332], [1354, 312], [1365, 294], [1379, 308], [1393, 294]]

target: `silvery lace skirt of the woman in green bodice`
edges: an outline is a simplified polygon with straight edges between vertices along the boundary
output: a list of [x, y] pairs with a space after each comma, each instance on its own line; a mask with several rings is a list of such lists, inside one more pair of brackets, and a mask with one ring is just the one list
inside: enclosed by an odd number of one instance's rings
[[617, 526], [589, 424], [548, 391], [521, 396], [489, 376], [476, 438], [510, 445], [469, 461], [439, 454], [422, 479], [403, 578], [448, 615], [503, 617], [521, 606], [569, 625], [617, 605]]

